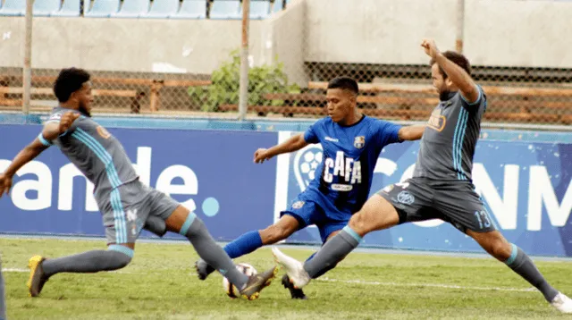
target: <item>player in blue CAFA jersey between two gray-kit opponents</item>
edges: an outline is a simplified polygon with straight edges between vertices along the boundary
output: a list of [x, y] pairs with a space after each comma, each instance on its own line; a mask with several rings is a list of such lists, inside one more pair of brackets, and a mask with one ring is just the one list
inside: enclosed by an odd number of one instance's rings
[[[347, 77], [331, 80], [326, 92], [327, 117], [315, 122], [304, 134], [269, 149], [257, 150], [254, 161], [263, 163], [273, 156], [320, 143], [324, 156], [316, 173], [321, 174], [299, 194], [290, 209], [282, 212], [277, 223], [265, 230], [247, 232], [227, 244], [224, 250], [229, 257], [240, 257], [284, 240], [310, 224], [318, 227], [323, 242], [332, 238], [366, 202], [375, 163], [383, 147], [421, 139], [425, 125], [401, 127], [361, 114], [357, 110], [357, 94], [356, 80]], [[328, 270], [334, 266], [330, 265]], [[196, 267], [201, 280], [214, 271], [202, 259]], [[290, 290], [292, 299], [306, 299], [303, 291], [293, 288], [287, 275], [282, 278], [282, 284]]]

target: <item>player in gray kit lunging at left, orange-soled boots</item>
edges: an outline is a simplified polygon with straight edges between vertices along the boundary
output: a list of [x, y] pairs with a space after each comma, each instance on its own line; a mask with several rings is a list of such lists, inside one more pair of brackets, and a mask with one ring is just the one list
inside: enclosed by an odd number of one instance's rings
[[241, 273], [197, 215], [139, 181], [121, 142], [91, 119], [93, 96], [89, 79], [89, 73], [81, 69], [60, 72], [54, 84], [60, 105], [52, 111], [38, 138], [24, 147], [0, 174], [0, 197], [8, 193], [13, 175], [22, 165], [55, 145], [94, 184], [94, 197], [103, 215], [108, 247], [69, 257], [31, 257], [29, 295], [37, 297], [55, 274], [96, 273], [129, 265], [139, 232], [152, 222], [150, 231], [166, 229], [181, 233], [199, 257], [215, 265], [216, 270], [239, 288], [240, 296], [257, 299], [277, 269], [249, 277]]

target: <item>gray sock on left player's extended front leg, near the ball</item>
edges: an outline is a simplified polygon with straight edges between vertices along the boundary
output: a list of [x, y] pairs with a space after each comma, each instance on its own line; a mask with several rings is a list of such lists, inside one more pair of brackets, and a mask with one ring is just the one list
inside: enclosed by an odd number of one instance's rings
[[248, 276], [242, 274], [236, 268], [236, 265], [232, 263], [231, 257], [224, 252], [221, 246], [214, 242], [213, 237], [208, 230], [206, 230], [205, 223], [203, 223], [197, 215], [190, 213], [179, 233], [189, 239], [190, 243], [195, 247], [195, 250], [197, 250], [199, 257], [223, 274], [229, 282], [239, 289], [246, 286]]

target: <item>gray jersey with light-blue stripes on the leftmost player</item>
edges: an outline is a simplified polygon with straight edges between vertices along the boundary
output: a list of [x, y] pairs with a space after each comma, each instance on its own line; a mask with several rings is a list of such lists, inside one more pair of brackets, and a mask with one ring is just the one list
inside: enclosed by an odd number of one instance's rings
[[[59, 123], [62, 115], [69, 111], [80, 114], [78, 111], [56, 107], [47, 122]], [[59, 138], [43, 142], [55, 144], [80, 169], [94, 184], [96, 198], [139, 177], [119, 140], [83, 114]]]

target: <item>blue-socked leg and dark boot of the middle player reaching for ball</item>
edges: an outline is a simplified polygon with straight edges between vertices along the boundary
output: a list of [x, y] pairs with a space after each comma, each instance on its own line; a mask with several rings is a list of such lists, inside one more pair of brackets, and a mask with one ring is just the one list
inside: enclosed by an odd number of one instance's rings
[[[268, 226], [264, 230], [252, 231], [242, 234], [239, 238], [224, 246], [224, 251], [231, 258], [242, 257], [265, 245], [284, 240], [299, 229], [299, 222], [291, 215], [283, 215], [277, 223]], [[214, 272], [214, 267], [205, 260], [199, 259], [195, 263], [198, 279], [205, 280]]]

